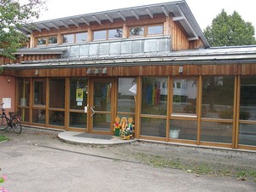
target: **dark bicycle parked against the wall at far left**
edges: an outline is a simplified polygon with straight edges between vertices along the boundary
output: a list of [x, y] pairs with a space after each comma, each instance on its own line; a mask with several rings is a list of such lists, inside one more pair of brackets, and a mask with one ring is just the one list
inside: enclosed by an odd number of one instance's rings
[[1, 104], [2, 114], [0, 114], [0, 130], [9, 130], [15, 131], [15, 133], [20, 134], [22, 131], [22, 127], [20, 124], [20, 119], [14, 112], [9, 112], [9, 117], [5, 113], [5, 109], [3, 108], [3, 104]]

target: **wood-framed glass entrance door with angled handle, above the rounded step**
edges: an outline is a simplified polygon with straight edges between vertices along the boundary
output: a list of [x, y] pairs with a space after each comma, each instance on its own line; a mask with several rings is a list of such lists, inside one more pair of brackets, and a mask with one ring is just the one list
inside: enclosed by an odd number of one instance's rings
[[90, 132], [112, 134], [113, 79], [92, 79], [90, 82]]

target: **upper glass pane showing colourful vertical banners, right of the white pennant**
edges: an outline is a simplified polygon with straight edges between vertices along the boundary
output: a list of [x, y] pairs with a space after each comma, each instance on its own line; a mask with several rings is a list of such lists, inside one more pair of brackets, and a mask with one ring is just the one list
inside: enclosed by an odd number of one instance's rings
[[143, 78], [143, 114], [166, 115], [167, 78]]

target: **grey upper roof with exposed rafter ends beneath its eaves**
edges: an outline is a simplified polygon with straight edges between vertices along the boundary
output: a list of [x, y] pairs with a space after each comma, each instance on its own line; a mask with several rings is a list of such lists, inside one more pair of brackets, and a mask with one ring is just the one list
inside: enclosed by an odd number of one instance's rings
[[201, 28], [197, 24], [194, 15], [191, 13], [188, 4], [183, 0], [172, 1], [169, 3], [149, 4], [127, 9], [114, 9], [92, 14], [75, 15], [55, 20], [38, 21], [30, 25], [18, 27], [17, 29], [26, 35], [29, 35], [32, 34], [34, 30], [42, 32], [43, 29], [46, 29], [49, 31], [52, 27], [55, 29], [59, 29], [61, 26], [66, 28], [69, 28], [73, 25], [79, 27], [80, 24], [86, 24], [87, 26], [90, 26], [90, 23], [92, 22], [101, 24], [102, 20], [109, 20], [113, 23], [114, 20], [126, 20], [127, 18], [131, 17], [135, 17], [137, 20], [140, 20], [140, 18], [145, 15], [148, 15], [150, 18], [154, 19], [154, 15], [163, 14], [168, 17], [171, 13], [174, 17], [173, 20], [180, 22], [184, 30], [188, 33], [189, 40], [196, 40], [201, 38], [206, 47], [209, 47], [207, 39], [201, 32]]

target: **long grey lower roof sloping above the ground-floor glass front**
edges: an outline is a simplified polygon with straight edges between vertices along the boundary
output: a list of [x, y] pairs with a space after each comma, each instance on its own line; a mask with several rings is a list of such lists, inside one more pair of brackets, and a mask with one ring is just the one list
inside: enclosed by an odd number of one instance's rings
[[227, 47], [173, 51], [157, 55], [131, 55], [113, 57], [85, 57], [24, 61], [8, 64], [6, 69], [78, 68], [78, 67], [135, 67], [150, 65], [207, 65], [256, 63], [256, 46]]

